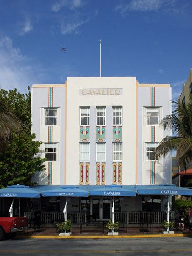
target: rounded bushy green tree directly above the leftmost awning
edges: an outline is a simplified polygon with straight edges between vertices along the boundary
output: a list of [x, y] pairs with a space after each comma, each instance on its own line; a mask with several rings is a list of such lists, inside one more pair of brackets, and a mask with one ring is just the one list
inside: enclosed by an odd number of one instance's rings
[[35, 134], [13, 134], [6, 150], [0, 153], [0, 187], [22, 184], [30, 186], [31, 176], [45, 168], [45, 159], [36, 154], [42, 142], [35, 141]]

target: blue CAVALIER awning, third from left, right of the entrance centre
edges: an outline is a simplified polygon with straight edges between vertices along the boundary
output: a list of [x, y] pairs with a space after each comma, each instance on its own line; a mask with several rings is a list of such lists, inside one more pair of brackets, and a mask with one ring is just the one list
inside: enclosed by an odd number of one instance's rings
[[102, 188], [89, 191], [90, 196], [136, 196], [136, 188], [132, 186], [130, 189], [123, 188], [120, 185], [108, 185]]

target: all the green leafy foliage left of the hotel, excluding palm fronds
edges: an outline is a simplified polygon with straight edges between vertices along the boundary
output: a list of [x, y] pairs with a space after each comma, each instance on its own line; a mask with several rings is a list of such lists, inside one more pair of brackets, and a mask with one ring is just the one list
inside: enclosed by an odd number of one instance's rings
[[[4, 112], [20, 120], [21, 129], [13, 130], [6, 139], [6, 147], [0, 152], [0, 187], [22, 184], [31, 185], [31, 176], [44, 170], [45, 159], [37, 156], [42, 142], [35, 141], [31, 134], [31, 93], [20, 94], [17, 89], [0, 90], [0, 102]], [[16, 133], [17, 132], [17, 133]]]

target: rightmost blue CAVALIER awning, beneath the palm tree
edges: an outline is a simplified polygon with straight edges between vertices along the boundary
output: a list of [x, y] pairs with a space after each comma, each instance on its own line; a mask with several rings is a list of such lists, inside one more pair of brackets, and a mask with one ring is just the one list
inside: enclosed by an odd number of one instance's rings
[[136, 185], [138, 195], [181, 195], [192, 196], [192, 189], [177, 187], [174, 184]]

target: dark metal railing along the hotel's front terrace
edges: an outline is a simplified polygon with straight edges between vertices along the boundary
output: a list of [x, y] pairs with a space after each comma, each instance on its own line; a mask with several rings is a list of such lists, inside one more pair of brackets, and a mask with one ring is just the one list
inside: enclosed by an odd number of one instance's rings
[[[34, 212], [25, 212], [28, 222], [34, 222]], [[71, 220], [72, 224], [86, 223], [86, 214], [80, 212], [68, 212], [67, 219]], [[138, 211], [138, 212], [115, 212], [115, 221], [128, 224], [139, 224], [143, 220], [148, 220], [151, 223], [162, 223], [167, 219], [167, 211]], [[174, 211], [170, 212], [170, 219], [174, 220]], [[63, 212], [41, 212], [41, 222], [45, 224], [52, 224], [64, 221]]]

